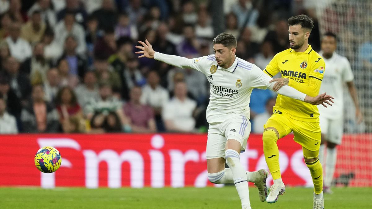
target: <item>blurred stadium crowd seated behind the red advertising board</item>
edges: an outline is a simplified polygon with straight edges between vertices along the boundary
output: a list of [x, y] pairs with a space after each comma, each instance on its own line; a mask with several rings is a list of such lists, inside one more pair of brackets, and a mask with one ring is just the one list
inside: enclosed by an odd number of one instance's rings
[[[138, 59], [137, 41], [202, 57], [225, 31], [238, 57], [264, 69], [289, 48], [287, 19], [301, 13], [319, 51], [301, 0], [0, 0], [0, 133], [206, 132], [205, 76]], [[275, 96], [253, 91], [253, 132]]]

